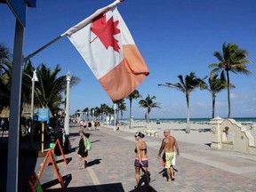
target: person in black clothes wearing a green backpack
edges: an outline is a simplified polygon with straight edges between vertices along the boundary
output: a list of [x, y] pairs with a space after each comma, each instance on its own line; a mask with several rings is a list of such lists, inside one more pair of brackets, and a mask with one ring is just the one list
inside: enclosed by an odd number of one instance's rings
[[88, 156], [88, 150], [86, 149], [87, 145], [87, 138], [84, 135], [84, 132], [82, 130], [79, 131], [80, 140], [79, 140], [79, 148], [78, 148], [78, 158], [82, 161], [82, 166], [79, 167], [79, 169], [84, 169], [87, 165], [87, 161], [85, 157]]

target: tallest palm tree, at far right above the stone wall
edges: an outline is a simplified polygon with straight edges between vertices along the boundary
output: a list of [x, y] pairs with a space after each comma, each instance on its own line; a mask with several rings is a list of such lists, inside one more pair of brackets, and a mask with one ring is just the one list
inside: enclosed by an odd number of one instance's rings
[[225, 43], [222, 45], [222, 53], [214, 52], [214, 57], [216, 57], [220, 62], [212, 63], [209, 68], [213, 68], [211, 76], [214, 76], [220, 71], [226, 71], [227, 83], [228, 83], [228, 118], [230, 118], [230, 80], [229, 71], [235, 74], [243, 73], [245, 75], [251, 74], [251, 71], [247, 69], [246, 64], [252, 63], [252, 60], [246, 60], [248, 53], [245, 50], [239, 49], [236, 44]]

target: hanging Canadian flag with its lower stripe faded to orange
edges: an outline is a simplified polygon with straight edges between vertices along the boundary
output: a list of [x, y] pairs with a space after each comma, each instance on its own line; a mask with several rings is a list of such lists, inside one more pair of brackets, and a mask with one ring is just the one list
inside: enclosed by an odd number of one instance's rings
[[122, 100], [148, 76], [148, 67], [113, 4], [69, 28], [68, 36], [111, 100]]

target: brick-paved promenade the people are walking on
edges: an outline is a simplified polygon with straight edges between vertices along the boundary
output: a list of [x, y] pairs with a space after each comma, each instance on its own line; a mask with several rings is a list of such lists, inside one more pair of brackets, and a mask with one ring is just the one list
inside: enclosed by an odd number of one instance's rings
[[[99, 131], [87, 131], [91, 134], [92, 151], [87, 160], [89, 167], [79, 170], [77, 158], [80, 127], [70, 128], [70, 142], [73, 152], [66, 155], [71, 159], [68, 165], [57, 157], [63, 180], [68, 186], [66, 191], [138, 191], [133, 188], [134, 145], [131, 131], [113, 131], [102, 128]], [[166, 182], [163, 167], [157, 158], [161, 138], [145, 137], [148, 145], [150, 185], [153, 191], [256, 191], [256, 156], [214, 150], [207, 145], [179, 142], [180, 157], [177, 158], [175, 180]], [[43, 158], [38, 158], [36, 173], [39, 172]], [[52, 170], [45, 167], [40, 180], [45, 191], [60, 191], [60, 184]], [[148, 191], [142, 187], [140, 191]]]

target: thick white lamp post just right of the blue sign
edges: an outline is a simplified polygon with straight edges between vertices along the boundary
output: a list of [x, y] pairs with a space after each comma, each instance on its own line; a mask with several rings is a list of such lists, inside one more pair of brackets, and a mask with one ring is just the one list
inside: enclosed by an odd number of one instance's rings
[[65, 130], [65, 142], [64, 142], [64, 150], [67, 153], [69, 151], [69, 88], [70, 88], [70, 81], [71, 81], [71, 73], [68, 70], [66, 75], [67, 80], [67, 93], [66, 93], [66, 115], [65, 115], [65, 123], [64, 123], [64, 130]]

